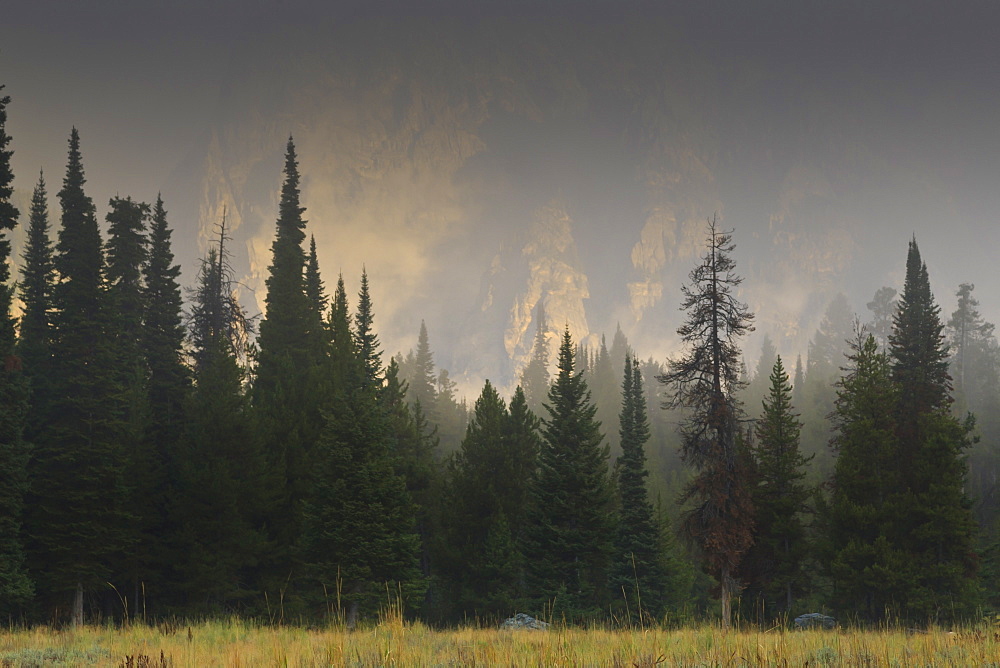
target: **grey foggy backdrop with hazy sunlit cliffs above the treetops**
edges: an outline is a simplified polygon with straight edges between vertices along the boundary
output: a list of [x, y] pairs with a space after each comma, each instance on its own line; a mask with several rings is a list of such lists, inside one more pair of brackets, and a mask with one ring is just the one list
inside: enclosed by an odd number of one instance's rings
[[225, 204], [259, 286], [293, 134], [327, 284], [356, 289], [363, 265], [386, 351], [426, 319], [470, 387], [516, 372], [538, 301], [665, 357], [713, 214], [783, 352], [835, 292], [865, 315], [898, 288], [912, 235], [946, 315], [969, 281], [1000, 318], [996, 3], [8, 0], [0, 18], [22, 197], [40, 169], [58, 190], [75, 126], [102, 218], [162, 193], [190, 282]]

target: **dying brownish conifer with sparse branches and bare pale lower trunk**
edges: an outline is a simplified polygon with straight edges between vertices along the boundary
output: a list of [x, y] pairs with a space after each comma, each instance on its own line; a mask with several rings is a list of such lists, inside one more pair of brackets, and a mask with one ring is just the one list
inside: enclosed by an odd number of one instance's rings
[[740, 438], [741, 410], [737, 340], [752, 331], [753, 314], [733, 290], [742, 279], [734, 273], [732, 234], [708, 225], [708, 252], [683, 288], [681, 308], [687, 320], [677, 333], [690, 346], [670, 360], [660, 382], [673, 392], [668, 407], [692, 411], [681, 429], [682, 452], [697, 474], [685, 498], [695, 508], [685, 530], [700, 548], [708, 570], [718, 580], [722, 624], [728, 628], [731, 599], [738, 583], [736, 567], [750, 547], [753, 507], [747, 488], [747, 455]]

